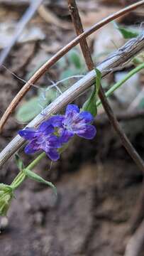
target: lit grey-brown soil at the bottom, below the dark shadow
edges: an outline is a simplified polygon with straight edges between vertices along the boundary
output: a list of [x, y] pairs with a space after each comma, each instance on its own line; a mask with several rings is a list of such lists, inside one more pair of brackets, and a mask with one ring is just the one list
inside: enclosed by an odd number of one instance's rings
[[123, 255], [140, 181], [137, 168], [122, 159], [67, 170], [56, 183], [57, 198], [28, 181], [1, 232], [1, 255]]

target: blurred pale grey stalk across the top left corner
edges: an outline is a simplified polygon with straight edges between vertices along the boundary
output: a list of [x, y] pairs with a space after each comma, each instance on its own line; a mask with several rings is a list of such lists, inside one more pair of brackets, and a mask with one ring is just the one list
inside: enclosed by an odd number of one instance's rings
[[16, 41], [18, 40], [19, 36], [21, 36], [21, 33], [23, 32], [23, 29], [27, 25], [27, 23], [33, 18], [33, 15], [35, 14], [35, 11], [37, 11], [40, 4], [43, 2], [43, 0], [37, 0], [37, 1], [31, 1], [31, 5], [26, 10], [26, 13], [23, 14], [21, 20], [16, 25], [16, 33], [14, 34], [11, 42], [9, 43], [9, 46], [4, 48], [4, 50], [1, 51], [0, 54], [0, 67], [3, 65], [4, 61], [8, 57], [11, 49], [15, 45]]

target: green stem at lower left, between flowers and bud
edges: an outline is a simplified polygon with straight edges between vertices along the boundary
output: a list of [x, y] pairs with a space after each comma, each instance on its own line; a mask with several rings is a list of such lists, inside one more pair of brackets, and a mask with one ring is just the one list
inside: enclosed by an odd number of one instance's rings
[[[45, 152], [41, 153], [36, 159], [34, 159], [31, 164], [29, 164], [26, 169], [33, 169], [38, 162], [43, 159], [45, 157]], [[16, 188], [18, 188], [18, 186], [21, 185], [21, 183], [26, 179], [26, 174], [24, 174], [24, 171], [20, 171], [19, 174], [16, 176], [16, 178], [14, 178], [13, 182], [11, 183], [11, 188], [13, 188], [13, 190], [15, 190]]]

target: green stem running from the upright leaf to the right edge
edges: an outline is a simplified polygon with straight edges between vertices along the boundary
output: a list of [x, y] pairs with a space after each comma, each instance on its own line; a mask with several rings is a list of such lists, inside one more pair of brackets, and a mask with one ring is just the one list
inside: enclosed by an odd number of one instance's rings
[[[126, 82], [129, 78], [131, 78], [133, 75], [135, 75], [136, 73], [138, 73], [140, 70], [142, 70], [144, 68], [144, 63], [138, 65], [138, 67], [133, 68], [133, 70], [131, 70], [123, 79], [121, 79], [120, 81], [116, 82], [115, 85], [113, 85], [106, 93], [106, 97], [109, 97], [116, 89], [118, 89], [118, 87], [120, 87], [121, 85], [123, 85], [124, 82]], [[98, 100], [96, 102], [96, 107], [99, 107], [99, 105], [101, 105], [101, 100]]]

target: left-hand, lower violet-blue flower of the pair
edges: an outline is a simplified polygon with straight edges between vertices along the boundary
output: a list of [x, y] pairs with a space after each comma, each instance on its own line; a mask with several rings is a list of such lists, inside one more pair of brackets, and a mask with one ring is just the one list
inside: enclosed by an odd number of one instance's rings
[[18, 134], [24, 139], [28, 139], [30, 142], [25, 147], [26, 154], [33, 154], [36, 151], [42, 149], [53, 161], [57, 161], [60, 158], [60, 154], [57, 149], [60, 148], [60, 138], [52, 134], [54, 127], [50, 121], [40, 124], [38, 129], [26, 128], [20, 130]]

